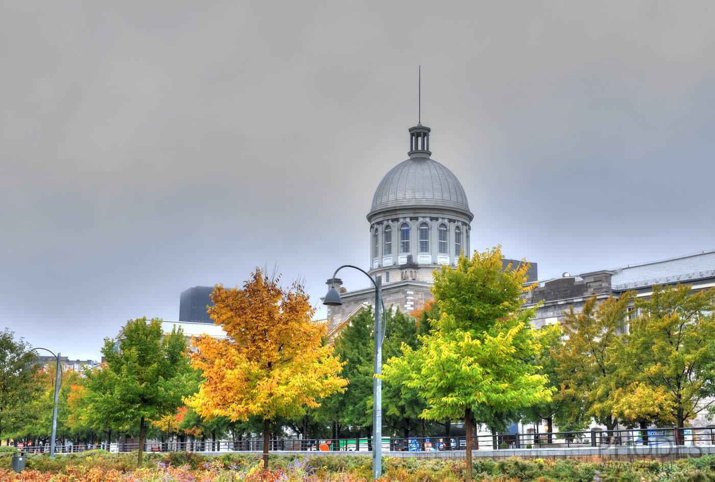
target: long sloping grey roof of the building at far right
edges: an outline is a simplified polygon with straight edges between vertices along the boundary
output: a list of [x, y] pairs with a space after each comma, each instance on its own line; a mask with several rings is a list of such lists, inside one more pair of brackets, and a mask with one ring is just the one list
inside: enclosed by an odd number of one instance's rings
[[696, 279], [715, 277], [715, 250], [678, 256], [618, 268], [611, 278], [616, 291], [654, 284], [689, 283]]

